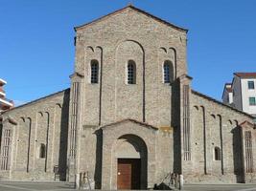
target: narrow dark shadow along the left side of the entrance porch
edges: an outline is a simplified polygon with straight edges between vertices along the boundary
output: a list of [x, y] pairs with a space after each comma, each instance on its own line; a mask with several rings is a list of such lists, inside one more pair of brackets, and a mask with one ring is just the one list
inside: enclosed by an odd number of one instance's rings
[[95, 132], [97, 137], [96, 142], [96, 164], [95, 164], [95, 189], [102, 187], [102, 166], [103, 166], [103, 130], [99, 129]]

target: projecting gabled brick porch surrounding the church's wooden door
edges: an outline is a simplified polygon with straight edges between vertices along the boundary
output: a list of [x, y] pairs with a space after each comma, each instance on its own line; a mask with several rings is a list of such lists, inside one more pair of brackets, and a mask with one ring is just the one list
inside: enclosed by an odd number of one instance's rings
[[[140, 177], [142, 178], [140, 189], [152, 188], [156, 182], [155, 154], [158, 128], [127, 118], [107, 124], [101, 127], [101, 129], [103, 130], [101, 188], [116, 190], [118, 158], [130, 157], [134, 159], [136, 156], [137, 158], [135, 159], [141, 159], [140, 163], [142, 164], [140, 168], [142, 170], [140, 172]], [[129, 149], [130, 152], [121, 153], [121, 150], [124, 149], [127, 151]]]

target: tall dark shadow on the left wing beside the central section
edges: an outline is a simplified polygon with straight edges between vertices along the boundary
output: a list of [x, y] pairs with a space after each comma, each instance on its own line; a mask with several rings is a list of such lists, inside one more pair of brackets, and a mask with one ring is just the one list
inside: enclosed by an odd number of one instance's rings
[[60, 138], [59, 138], [59, 158], [58, 158], [58, 173], [59, 180], [66, 180], [67, 171], [67, 142], [68, 142], [68, 114], [69, 114], [69, 90], [64, 92], [63, 105], [61, 108], [60, 120]]

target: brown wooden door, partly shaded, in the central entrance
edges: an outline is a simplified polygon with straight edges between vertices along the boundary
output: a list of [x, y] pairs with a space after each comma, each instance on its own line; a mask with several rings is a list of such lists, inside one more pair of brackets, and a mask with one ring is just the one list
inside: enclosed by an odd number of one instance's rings
[[118, 159], [117, 189], [140, 189], [141, 159]]

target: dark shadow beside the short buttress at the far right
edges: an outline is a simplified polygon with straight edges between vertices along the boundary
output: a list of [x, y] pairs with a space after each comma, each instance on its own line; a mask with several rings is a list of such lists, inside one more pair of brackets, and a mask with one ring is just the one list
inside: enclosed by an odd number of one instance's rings
[[243, 152], [242, 152], [242, 129], [238, 125], [231, 131], [233, 134], [233, 163], [234, 174], [238, 183], [244, 183], [244, 165], [243, 165]]

